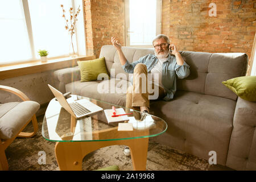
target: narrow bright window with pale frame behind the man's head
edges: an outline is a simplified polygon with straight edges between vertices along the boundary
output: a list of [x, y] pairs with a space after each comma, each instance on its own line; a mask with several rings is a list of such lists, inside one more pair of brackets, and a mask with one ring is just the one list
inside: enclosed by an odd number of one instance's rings
[[151, 47], [161, 32], [162, 0], [126, 0], [126, 46]]

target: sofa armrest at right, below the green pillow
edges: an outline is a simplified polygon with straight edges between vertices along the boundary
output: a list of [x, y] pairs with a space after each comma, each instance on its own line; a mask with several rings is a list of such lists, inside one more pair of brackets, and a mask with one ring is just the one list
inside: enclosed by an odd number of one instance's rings
[[226, 166], [256, 170], [256, 102], [238, 97]]

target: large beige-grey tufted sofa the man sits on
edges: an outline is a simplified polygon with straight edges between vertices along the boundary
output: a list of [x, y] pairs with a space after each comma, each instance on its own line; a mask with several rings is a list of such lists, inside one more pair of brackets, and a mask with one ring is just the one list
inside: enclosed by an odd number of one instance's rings
[[[122, 47], [131, 63], [139, 57], [154, 54], [150, 48]], [[238, 98], [221, 82], [245, 76], [248, 57], [245, 53], [205, 53], [180, 51], [190, 65], [187, 78], [177, 80], [177, 92], [171, 101], [151, 102], [152, 114], [168, 124], [166, 133], [153, 137], [159, 143], [208, 160], [215, 151], [217, 163], [237, 170], [256, 169], [256, 103]], [[102, 46], [100, 57], [105, 57], [111, 79], [118, 85], [127, 82], [129, 75], [119, 64], [113, 46]], [[111, 70], [112, 69], [112, 70]], [[114, 71], [114, 72], [113, 72]], [[127, 79], [116, 76], [123, 73]], [[55, 71], [55, 86], [61, 92], [72, 92], [97, 100], [125, 106], [126, 94], [98, 93], [98, 84], [105, 81], [80, 82], [80, 69]], [[119, 84], [118, 84], [119, 82]]]

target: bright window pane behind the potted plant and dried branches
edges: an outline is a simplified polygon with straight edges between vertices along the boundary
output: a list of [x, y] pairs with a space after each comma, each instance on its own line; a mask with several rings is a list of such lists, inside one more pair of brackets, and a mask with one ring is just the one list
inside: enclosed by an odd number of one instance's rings
[[[72, 6], [71, 1], [63, 0], [29, 0], [32, 34], [34, 39], [35, 54], [39, 57], [39, 49], [47, 49], [48, 57], [68, 55], [71, 42], [62, 17], [64, 6], [67, 11]], [[76, 44], [76, 39], [73, 39]]]

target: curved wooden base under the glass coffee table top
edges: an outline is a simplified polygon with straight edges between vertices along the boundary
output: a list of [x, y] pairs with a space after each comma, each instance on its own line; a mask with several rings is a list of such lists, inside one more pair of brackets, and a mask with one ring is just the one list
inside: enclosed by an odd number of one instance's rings
[[148, 138], [98, 142], [57, 142], [55, 155], [60, 170], [82, 170], [84, 156], [92, 151], [112, 145], [129, 146], [133, 170], [146, 170]]

